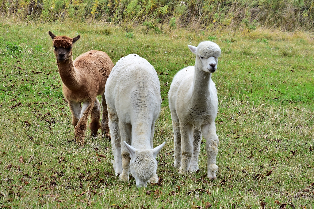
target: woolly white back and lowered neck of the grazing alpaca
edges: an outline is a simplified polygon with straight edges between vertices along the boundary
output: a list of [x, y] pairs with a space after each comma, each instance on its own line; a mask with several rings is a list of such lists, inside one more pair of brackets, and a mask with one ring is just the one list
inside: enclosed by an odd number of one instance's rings
[[154, 67], [136, 54], [121, 58], [106, 82], [105, 96], [108, 110], [116, 111], [119, 121], [132, 124], [132, 144], [140, 132], [149, 134], [143, 138], [149, 141], [151, 124], [158, 118], [161, 104]]

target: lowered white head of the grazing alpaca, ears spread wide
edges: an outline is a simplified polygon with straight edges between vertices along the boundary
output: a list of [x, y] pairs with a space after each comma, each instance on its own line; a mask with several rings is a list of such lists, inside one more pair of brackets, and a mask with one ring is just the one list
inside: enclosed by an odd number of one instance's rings
[[154, 149], [137, 150], [123, 142], [128, 152], [130, 153], [130, 170], [132, 176], [135, 178], [137, 187], [146, 187], [147, 181], [157, 171], [156, 156], [158, 152], [164, 147], [165, 142]]

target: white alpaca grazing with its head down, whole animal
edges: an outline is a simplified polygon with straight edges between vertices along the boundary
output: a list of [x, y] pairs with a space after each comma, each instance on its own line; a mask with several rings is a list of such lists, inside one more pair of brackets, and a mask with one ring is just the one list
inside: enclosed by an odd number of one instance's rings
[[121, 58], [106, 82], [105, 97], [116, 175], [128, 181], [131, 169], [137, 186], [158, 182], [156, 155], [165, 142], [153, 149], [161, 104], [154, 67], [136, 54]]

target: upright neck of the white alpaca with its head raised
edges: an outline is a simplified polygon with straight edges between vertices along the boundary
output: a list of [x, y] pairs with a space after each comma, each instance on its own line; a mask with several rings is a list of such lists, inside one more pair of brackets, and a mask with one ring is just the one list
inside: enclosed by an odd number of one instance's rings
[[[211, 73], [201, 69], [201, 63], [195, 63], [194, 79], [192, 88], [192, 102], [206, 105], [206, 100], [210, 94], [209, 85], [211, 81]], [[204, 101], [204, 102], [202, 102]]]

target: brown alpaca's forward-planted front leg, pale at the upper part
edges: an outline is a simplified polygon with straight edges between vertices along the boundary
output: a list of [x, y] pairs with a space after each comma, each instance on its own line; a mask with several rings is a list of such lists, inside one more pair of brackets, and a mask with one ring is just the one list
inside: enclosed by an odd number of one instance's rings
[[81, 118], [78, 121], [78, 124], [75, 126], [75, 136], [76, 142], [79, 143], [82, 147], [84, 147], [84, 138], [87, 128], [87, 120], [90, 112], [94, 107], [94, 101], [84, 102], [82, 111], [81, 111]]

